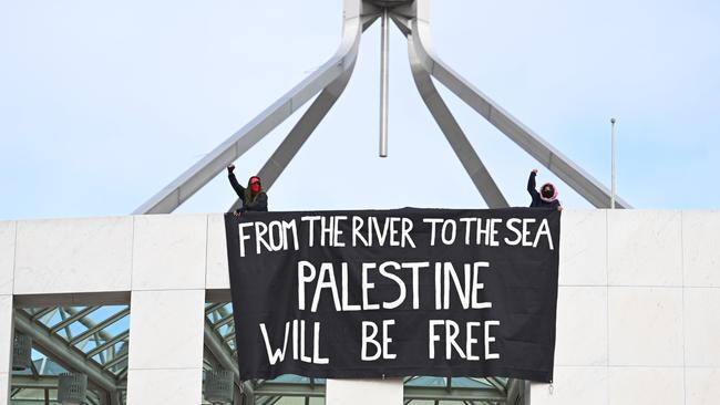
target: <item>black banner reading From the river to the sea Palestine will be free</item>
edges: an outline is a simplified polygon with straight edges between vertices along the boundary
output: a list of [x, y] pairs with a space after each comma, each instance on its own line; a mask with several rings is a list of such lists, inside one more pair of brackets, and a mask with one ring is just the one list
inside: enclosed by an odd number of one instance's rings
[[560, 212], [225, 217], [243, 380], [552, 382]]

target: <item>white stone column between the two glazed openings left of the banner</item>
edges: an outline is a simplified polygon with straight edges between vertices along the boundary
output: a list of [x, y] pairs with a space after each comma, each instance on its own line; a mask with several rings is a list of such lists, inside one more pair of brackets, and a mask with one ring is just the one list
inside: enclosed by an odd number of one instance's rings
[[127, 404], [203, 393], [206, 216], [135, 217]]

